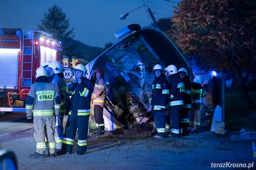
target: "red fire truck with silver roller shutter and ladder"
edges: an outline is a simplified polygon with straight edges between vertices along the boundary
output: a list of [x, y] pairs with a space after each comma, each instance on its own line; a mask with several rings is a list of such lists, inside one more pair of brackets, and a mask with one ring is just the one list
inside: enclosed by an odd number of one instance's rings
[[0, 111], [25, 111], [36, 69], [45, 61], [62, 60], [61, 42], [53, 35], [0, 27]]

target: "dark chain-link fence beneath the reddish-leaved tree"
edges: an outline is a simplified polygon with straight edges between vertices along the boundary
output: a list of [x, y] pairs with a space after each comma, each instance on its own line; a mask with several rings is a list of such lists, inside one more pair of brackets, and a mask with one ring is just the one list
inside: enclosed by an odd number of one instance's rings
[[220, 74], [209, 81], [212, 105], [222, 107], [222, 122], [229, 131], [256, 131], [256, 79]]

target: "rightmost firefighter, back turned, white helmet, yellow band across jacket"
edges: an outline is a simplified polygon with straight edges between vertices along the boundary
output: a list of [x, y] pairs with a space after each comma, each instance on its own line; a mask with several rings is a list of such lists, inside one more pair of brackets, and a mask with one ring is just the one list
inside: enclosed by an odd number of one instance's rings
[[[202, 105], [202, 97], [206, 96], [206, 91], [202, 87], [203, 77], [198, 75], [195, 76], [193, 82], [191, 83], [191, 111], [189, 112], [189, 130], [192, 128], [193, 117], [194, 117], [194, 133], [198, 133], [198, 127], [200, 122], [198, 121], [198, 115], [201, 116], [200, 105]], [[201, 117], [200, 117], [201, 118]]]

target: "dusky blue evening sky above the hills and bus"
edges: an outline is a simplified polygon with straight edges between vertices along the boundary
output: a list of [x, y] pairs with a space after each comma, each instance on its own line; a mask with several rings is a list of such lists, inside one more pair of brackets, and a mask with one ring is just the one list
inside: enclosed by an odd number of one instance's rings
[[[179, 2], [180, 0], [172, 0]], [[144, 0], [156, 20], [173, 16], [177, 3], [164, 0]], [[148, 2], [148, 3], [147, 3]], [[117, 42], [115, 33], [127, 25], [150, 25], [150, 19], [142, 0], [0, 0], [0, 27], [36, 30], [41, 24], [44, 12], [56, 4], [70, 19], [70, 28], [74, 27], [74, 40], [89, 46], [104, 47], [106, 43]], [[130, 12], [125, 20], [119, 16]]]

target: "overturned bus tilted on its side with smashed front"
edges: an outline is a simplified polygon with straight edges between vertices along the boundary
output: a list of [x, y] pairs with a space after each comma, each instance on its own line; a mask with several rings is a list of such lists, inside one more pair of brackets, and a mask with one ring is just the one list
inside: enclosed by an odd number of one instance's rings
[[[153, 67], [174, 64], [184, 67], [193, 80], [193, 72], [177, 47], [155, 27], [132, 24], [117, 32], [122, 38], [87, 64], [87, 78], [95, 81], [94, 70], [102, 69], [107, 84], [104, 106], [105, 130], [114, 130], [133, 122], [150, 121]], [[91, 109], [93, 110], [93, 109]], [[94, 116], [91, 113], [94, 124]]]

